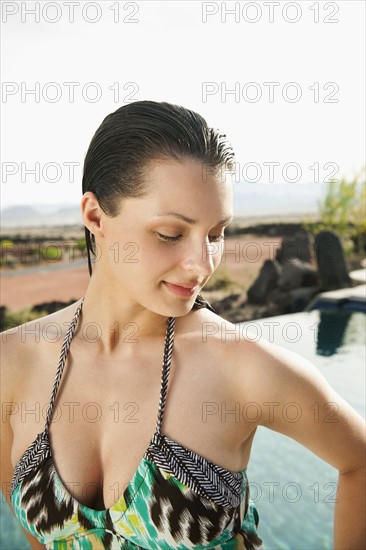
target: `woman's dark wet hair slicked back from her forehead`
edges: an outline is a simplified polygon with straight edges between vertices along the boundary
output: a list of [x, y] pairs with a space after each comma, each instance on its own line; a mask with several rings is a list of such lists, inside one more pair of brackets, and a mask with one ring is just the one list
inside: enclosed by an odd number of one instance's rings
[[[226, 135], [198, 113], [166, 102], [136, 101], [109, 114], [95, 132], [84, 161], [82, 191], [95, 194], [107, 216], [117, 216], [121, 199], [142, 197], [151, 162], [191, 158], [213, 172], [234, 170]], [[94, 235], [85, 227], [89, 274]], [[198, 295], [193, 307], [209, 307]]]

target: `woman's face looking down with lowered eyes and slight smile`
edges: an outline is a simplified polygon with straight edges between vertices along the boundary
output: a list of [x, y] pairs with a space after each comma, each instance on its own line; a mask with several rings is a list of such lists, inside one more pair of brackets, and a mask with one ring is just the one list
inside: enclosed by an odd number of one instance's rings
[[147, 174], [147, 195], [102, 218], [103, 275], [116, 299], [179, 317], [221, 261], [232, 181], [197, 160], [156, 161]]

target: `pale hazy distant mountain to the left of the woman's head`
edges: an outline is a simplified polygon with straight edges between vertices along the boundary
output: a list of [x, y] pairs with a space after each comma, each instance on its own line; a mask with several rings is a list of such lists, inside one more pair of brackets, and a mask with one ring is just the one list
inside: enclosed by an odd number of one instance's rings
[[82, 224], [80, 206], [11, 206], [1, 211], [1, 227], [36, 227], [41, 225], [76, 225]]

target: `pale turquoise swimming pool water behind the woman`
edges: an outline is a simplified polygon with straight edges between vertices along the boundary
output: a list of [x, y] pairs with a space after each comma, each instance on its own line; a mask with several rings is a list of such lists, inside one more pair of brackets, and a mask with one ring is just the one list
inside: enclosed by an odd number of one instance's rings
[[[365, 313], [312, 310], [238, 326], [311, 361], [365, 417]], [[332, 548], [337, 470], [296, 441], [259, 427], [248, 477], [265, 550]], [[0, 548], [29, 548], [4, 497], [0, 514]]]

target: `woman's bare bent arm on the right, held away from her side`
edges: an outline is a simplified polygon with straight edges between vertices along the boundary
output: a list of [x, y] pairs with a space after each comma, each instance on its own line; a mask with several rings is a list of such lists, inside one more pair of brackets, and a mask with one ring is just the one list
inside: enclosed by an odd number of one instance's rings
[[[249, 344], [253, 346], [249, 354], [248, 343], [243, 345], [246, 349], [237, 349], [237, 357], [241, 356], [241, 363], [243, 356], [249, 362], [253, 352], [255, 367], [249, 368], [249, 373], [241, 369], [240, 385], [244, 395], [249, 383], [254, 388], [262, 411], [259, 424], [295, 439], [338, 469], [334, 549], [364, 549], [364, 419], [305, 358], [265, 340]], [[293, 405], [289, 407], [289, 403]]]

